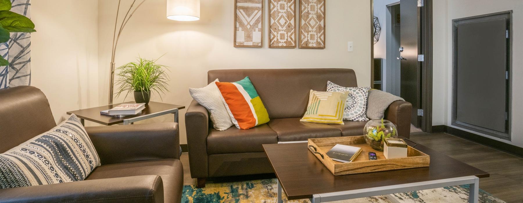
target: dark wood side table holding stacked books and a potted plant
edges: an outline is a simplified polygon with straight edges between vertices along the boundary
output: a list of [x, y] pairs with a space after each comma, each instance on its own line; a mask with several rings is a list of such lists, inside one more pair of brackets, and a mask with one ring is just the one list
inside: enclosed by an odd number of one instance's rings
[[[134, 103], [134, 102], [126, 102], [126, 103]], [[115, 107], [119, 104], [120, 103], [112, 104], [112, 105], [105, 105], [105, 106], [98, 106], [98, 107], [89, 108], [89, 109], [70, 111], [70, 112], [67, 112], [67, 114], [71, 115], [74, 113], [78, 118], [80, 118], [80, 120], [82, 121], [82, 124], [84, 124], [84, 120], [87, 120], [87, 121], [92, 121], [92, 122], [99, 123], [102, 125], [115, 125], [115, 124], [120, 124], [120, 123], [123, 125], [128, 125], [128, 124], [132, 124], [133, 122], [145, 120], [147, 118], [152, 118], [152, 117], [172, 113], [172, 114], [174, 114], [174, 122], [178, 123], [178, 110], [185, 109], [185, 106], [182, 106], [182, 105], [166, 104], [166, 103], [151, 101], [151, 102], [149, 102], [149, 104], [145, 105], [145, 109], [143, 109], [141, 113], [136, 114], [136, 115], [114, 117], [114, 116], [100, 114], [100, 111], [112, 109], [113, 107]]]

